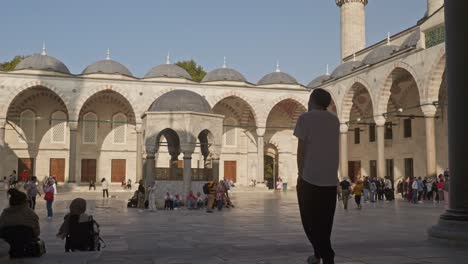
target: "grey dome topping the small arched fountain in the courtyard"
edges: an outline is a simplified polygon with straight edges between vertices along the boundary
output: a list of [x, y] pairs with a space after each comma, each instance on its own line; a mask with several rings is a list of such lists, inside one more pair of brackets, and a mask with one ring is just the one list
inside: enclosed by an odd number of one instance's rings
[[212, 113], [210, 104], [203, 96], [188, 90], [174, 90], [161, 95], [153, 102], [149, 111]]

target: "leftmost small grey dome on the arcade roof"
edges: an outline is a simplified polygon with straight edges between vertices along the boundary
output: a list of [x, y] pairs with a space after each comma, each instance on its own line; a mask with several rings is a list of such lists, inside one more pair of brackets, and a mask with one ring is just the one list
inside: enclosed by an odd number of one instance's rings
[[39, 70], [39, 71], [54, 71], [70, 74], [67, 66], [63, 62], [48, 55], [34, 54], [24, 58], [15, 70]]

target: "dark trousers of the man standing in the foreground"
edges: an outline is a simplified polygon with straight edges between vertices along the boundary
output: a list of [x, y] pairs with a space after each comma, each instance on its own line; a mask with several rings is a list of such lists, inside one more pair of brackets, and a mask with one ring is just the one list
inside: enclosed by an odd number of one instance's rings
[[302, 226], [314, 247], [314, 255], [324, 264], [335, 263], [335, 252], [331, 246], [331, 232], [336, 209], [336, 186], [316, 186], [297, 180], [297, 198]]

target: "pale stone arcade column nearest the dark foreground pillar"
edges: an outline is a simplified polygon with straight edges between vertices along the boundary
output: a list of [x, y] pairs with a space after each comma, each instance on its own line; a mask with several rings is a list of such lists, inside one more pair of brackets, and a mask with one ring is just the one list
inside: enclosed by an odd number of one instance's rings
[[422, 106], [426, 123], [426, 175], [437, 176], [436, 138], [435, 138], [435, 114], [437, 108], [434, 105]]

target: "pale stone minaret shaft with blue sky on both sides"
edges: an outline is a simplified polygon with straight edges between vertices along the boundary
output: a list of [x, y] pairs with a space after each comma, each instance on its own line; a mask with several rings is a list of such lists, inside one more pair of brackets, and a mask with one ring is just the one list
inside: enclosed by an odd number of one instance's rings
[[335, 0], [341, 9], [341, 59], [366, 47], [366, 13], [368, 0]]

